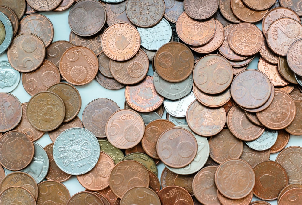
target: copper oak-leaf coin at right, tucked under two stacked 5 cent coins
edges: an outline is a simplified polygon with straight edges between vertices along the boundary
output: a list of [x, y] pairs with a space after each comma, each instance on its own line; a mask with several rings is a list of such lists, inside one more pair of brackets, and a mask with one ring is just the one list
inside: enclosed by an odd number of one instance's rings
[[281, 90], [275, 90], [273, 102], [267, 109], [257, 112], [259, 121], [269, 129], [284, 129], [294, 121], [296, 106], [294, 99]]

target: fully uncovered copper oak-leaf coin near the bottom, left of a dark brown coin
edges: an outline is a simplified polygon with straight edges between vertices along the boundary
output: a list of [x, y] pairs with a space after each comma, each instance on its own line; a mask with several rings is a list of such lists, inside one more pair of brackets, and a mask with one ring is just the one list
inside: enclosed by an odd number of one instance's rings
[[241, 159], [224, 161], [215, 173], [217, 189], [230, 199], [241, 199], [249, 195], [254, 188], [255, 180], [253, 168]]

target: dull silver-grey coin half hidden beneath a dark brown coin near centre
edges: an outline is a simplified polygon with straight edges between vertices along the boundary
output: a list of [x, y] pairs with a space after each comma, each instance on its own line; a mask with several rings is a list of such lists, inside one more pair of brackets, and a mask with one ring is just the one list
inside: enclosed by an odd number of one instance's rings
[[185, 97], [192, 90], [193, 73], [181, 82], [171, 83], [162, 79], [157, 72], [154, 71], [153, 82], [157, 93], [169, 100], [177, 100]]

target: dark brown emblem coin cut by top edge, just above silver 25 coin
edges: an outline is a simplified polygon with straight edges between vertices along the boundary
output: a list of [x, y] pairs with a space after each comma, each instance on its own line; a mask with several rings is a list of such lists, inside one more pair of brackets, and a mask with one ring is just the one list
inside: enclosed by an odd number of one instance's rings
[[129, 0], [126, 3], [127, 17], [134, 25], [142, 28], [149, 28], [159, 23], [164, 13], [165, 2], [163, 0], [146, 0], [144, 2]]

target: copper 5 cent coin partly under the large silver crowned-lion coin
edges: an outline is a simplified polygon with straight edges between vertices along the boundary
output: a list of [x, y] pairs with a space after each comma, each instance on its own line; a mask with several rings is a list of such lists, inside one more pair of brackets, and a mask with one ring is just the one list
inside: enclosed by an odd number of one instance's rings
[[88, 190], [102, 190], [109, 186], [109, 174], [113, 167], [113, 159], [101, 151], [95, 167], [86, 174], [77, 175], [77, 179]]

